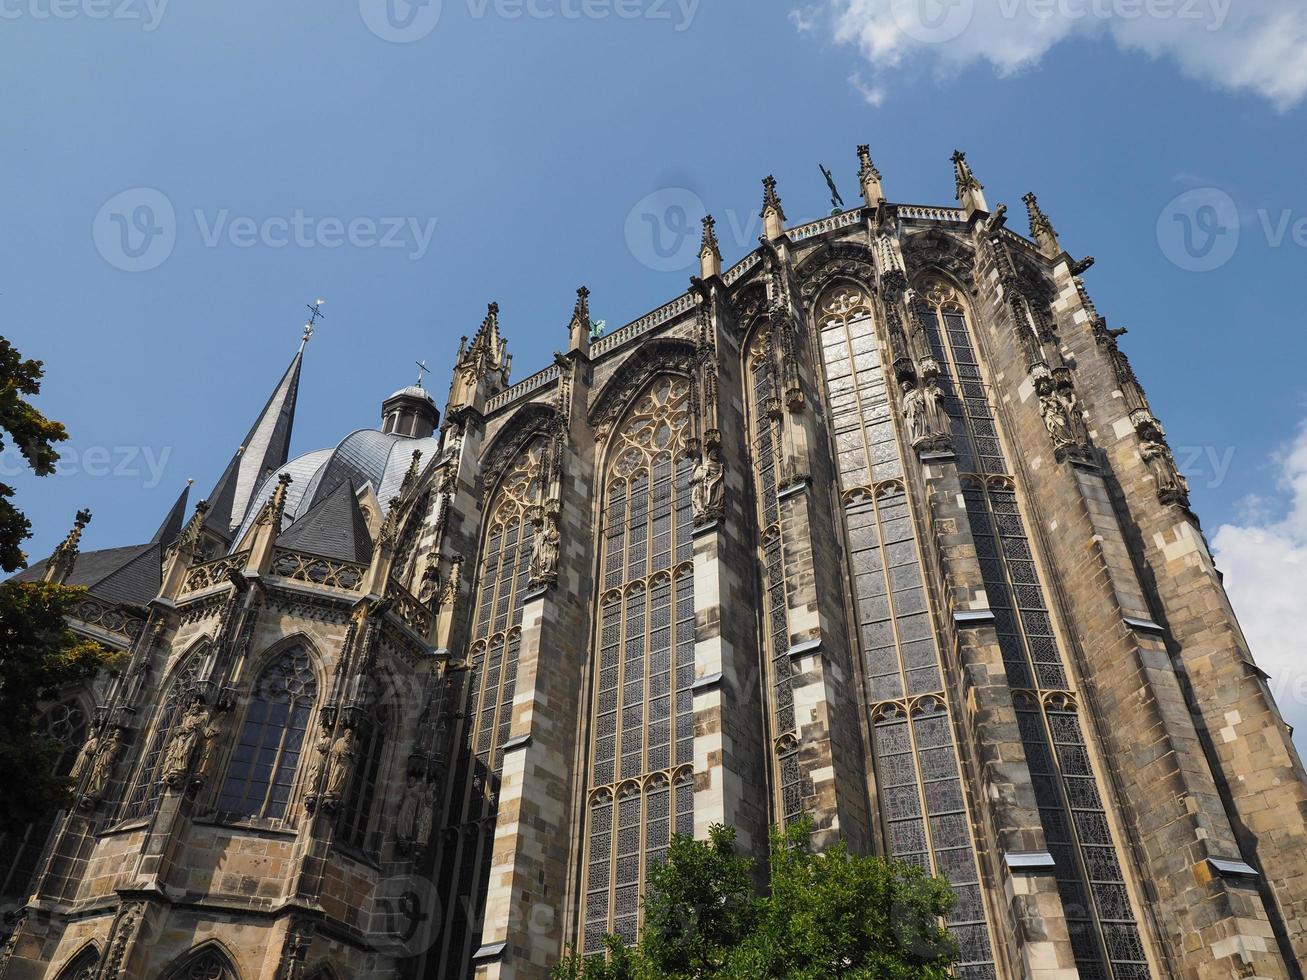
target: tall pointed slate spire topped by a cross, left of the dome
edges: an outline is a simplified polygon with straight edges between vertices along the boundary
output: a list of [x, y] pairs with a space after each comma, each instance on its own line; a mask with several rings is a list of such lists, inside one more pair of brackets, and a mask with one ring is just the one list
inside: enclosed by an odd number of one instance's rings
[[250, 500], [263, 478], [281, 469], [290, 459], [290, 433], [295, 422], [295, 400], [299, 396], [299, 368], [303, 345], [290, 361], [290, 367], [277, 382], [263, 412], [250, 427], [244, 442], [227, 463], [217, 485], [209, 493], [205, 531], [223, 541], [244, 523]]

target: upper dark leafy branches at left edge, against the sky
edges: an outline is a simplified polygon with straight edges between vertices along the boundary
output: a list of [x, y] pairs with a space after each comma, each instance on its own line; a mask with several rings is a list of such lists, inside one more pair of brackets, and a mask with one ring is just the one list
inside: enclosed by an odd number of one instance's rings
[[[14, 346], [0, 337], [0, 451], [8, 433], [22, 457], [38, 477], [55, 472], [59, 453], [55, 443], [68, 438], [63, 423], [51, 422], [26, 400], [41, 393], [44, 370], [39, 361], [24, 359]], [[31, 536], [31, 523], [13, 506], [13, 487], [0, 483], [0, 570], [17, 571], [27, 563], [22, 542]]]

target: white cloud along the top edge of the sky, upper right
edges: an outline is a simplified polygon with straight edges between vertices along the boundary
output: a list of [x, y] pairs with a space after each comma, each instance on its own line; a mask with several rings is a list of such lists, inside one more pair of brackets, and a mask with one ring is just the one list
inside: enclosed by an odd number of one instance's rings
[[873, 84], [910, 59], [946, 72], [987, 61], [1006, 76], [1068, 38], [1103, 34], [1280, 110], [1307, 95], [1302, 0], [826, 0], [791, 14], [801, 30], [822, 17], [838, 43], [867, 56]]

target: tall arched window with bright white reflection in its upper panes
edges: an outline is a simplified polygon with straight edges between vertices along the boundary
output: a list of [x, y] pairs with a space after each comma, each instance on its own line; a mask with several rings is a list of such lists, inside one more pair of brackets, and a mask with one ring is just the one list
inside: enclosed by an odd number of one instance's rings
[[887, 851], [953, 885], [958, 975], [983, 980], [995, 966], [974, 821], [867, 294], [852, 285], [831, 289], [818, 302], [818, 329]]

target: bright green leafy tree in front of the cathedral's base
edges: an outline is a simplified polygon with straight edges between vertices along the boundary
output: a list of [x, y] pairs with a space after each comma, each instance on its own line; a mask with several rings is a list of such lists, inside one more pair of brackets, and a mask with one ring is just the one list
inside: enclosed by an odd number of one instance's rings
[[945, 980], [955, 958], [944, 919], [953, 892], [921, 869], [817, 853], [808, 821], [771, 836], [769, 889], [753, 890], [753, 861], [735, 831], [673, 838], [650, 870], [644, 928], [627, 949], [570, 953], [554, 980]]

